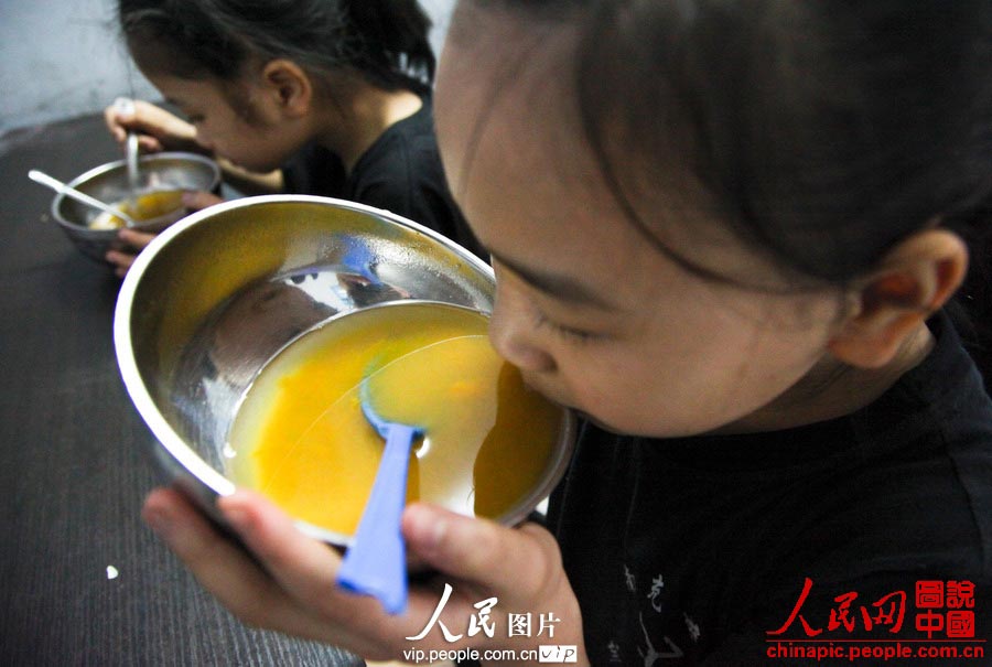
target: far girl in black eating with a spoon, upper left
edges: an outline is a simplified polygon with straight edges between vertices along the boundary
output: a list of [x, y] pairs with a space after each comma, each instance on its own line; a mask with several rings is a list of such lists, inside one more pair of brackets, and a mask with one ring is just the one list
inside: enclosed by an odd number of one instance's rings
[[[416, 0], [120, 0], [118, 11], [138, 67], [188, 119], [114, 105], [118, 140], [137, 130], [145, 150], [222, 158], [249, 192], [387, 208], [478, 251], [438, 157], [430, 20]], [[186, 197], [192, 208], [218, 201]], [[121, 239], [141, 248], [151, 236]], [[133, 255], [107, 259], [122, 275]]]

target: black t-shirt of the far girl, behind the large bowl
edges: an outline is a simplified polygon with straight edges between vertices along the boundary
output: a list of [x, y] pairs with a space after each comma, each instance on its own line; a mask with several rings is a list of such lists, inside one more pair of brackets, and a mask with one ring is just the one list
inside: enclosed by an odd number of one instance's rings
[[422, 100], [420, 110], [395, 122], [376, 139], [351, 174], [335, 153], [309, 144], [283, 168], [285, 190], [385, 208], [487, 259], [451, 197], [438, 153], [431, 99], [428, 96]]

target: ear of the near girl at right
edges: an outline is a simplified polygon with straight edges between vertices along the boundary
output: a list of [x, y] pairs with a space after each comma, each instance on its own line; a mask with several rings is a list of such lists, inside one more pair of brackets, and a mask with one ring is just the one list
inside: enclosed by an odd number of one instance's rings
[[841, 362], [877, 368], [961, 284], [968, 248], [956, 234], [929, 228], [893, 248], [851, 293], [853, 308], [828, 349]]

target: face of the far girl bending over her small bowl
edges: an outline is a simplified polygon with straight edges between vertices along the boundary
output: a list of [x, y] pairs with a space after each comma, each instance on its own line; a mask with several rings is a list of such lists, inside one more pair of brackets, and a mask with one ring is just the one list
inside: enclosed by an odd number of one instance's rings
[[183, 111], [196, 128], [200, 143], [248, 171], [279, 169], [309, 139], [302, 128], [280, 122], [269, 97], [250, 82], [242, 87], [244, 105], [233, 106], [214, 79], [154, 73], [147, 73], [147, 77]]

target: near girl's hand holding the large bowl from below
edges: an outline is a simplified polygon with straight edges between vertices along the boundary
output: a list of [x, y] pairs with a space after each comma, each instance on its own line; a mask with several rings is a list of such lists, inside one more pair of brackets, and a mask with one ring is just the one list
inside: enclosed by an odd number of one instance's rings
[[[239, 491], [218, 506], [258, 561], [217, 532], [177, 491], [152, 492], [143, 517], [200, 582], [249, 625], [317, 639], [369, 659], [402, 659], [403, 649], [519, 650], [552, 643], [576, 645], [579, 664], [587, 664], [578, 603], [558, 546], [535, 524], [511, 529], [430, 505], [408, 507], [402, 519], [408, 550], [440, 574], [411, 587], [407, 611], [389, 616], [376, 600], [338, 589], [337, 552], [300, 532], [261, 495]], [[435, 624], [422, 639], [408, 639], [428, 626], [445, 583], [452, 593], [440, 621], [462, 637], [449, 642]], [[489, 598], [497, 599], [489, 616], [497, 626], [494, 636], [478, 632], [470, 637], [470, 620], [479, 612], [475, 605]], [[547, 632], [508, 638], [508, 613], [539, 617], [549, 612], [560, 620], [553, 638]]]

